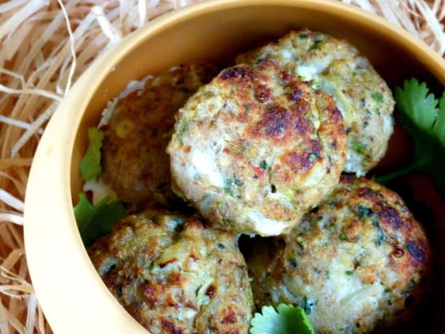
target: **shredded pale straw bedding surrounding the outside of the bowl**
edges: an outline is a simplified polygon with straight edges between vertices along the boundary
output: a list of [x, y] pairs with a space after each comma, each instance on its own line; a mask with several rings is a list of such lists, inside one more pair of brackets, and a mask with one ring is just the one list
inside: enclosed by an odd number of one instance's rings
[[[47, 120], [104, 50], [193, 0], [10, 0], [0, 3], [0, 333], [51, 333], [23, 246], [29, 167]], [[445, 0], [343, 0], [445, 55]]]

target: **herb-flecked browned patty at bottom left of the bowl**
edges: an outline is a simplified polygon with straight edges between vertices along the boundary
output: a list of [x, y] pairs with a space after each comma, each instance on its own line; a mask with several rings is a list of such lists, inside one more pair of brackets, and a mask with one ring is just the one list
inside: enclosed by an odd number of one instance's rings
[[249, 330], [251, 287], [232, 233], [144, 211], [118, 222], [88, 253], [116, 299], [153, 334]]

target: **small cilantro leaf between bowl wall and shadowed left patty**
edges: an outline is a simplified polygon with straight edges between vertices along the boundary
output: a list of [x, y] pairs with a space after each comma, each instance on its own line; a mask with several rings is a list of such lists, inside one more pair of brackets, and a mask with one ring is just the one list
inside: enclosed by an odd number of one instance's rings
[[95, 127], [88, 129], [88, 149], [79, 164], [79, 172], [84, 181], [94, 179], [101, 174], [101, 148], [103, 132]]

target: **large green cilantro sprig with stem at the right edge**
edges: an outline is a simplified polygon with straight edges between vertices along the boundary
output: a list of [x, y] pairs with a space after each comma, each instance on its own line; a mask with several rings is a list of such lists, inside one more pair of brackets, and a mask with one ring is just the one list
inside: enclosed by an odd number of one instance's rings
[[445, 92], [437, 100], [427, 84], [410, 79], [403, 82], [403, 88], [396, 88], [394, 97], [399, 120], [414, 139], [414, 159], [405, 168], [378, 177], [377, 181], [385, 183], [420, 170], [431, 175], [437, 191], [445, 198]]

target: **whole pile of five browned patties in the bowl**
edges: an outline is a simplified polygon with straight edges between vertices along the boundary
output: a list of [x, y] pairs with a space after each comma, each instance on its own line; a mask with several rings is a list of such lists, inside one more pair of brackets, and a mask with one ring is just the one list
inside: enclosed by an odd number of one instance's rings
[[[214, 75], [151, 77], [104, 127], [102, 179], [149, 208], [90, 248], [114, 296], [152, 333], [248, 333], [254, 304], [301, 306], [317, 333], [409, 318], [429, 272], [424, 230], [394, 192], [342, 175], [366, 175], [387, 149], [385, 81], [307, 29]], [[183, 210], [179, 198], [197, 214], [157, 209]], [[257, 235], [247, 264], [241, 234]]]

